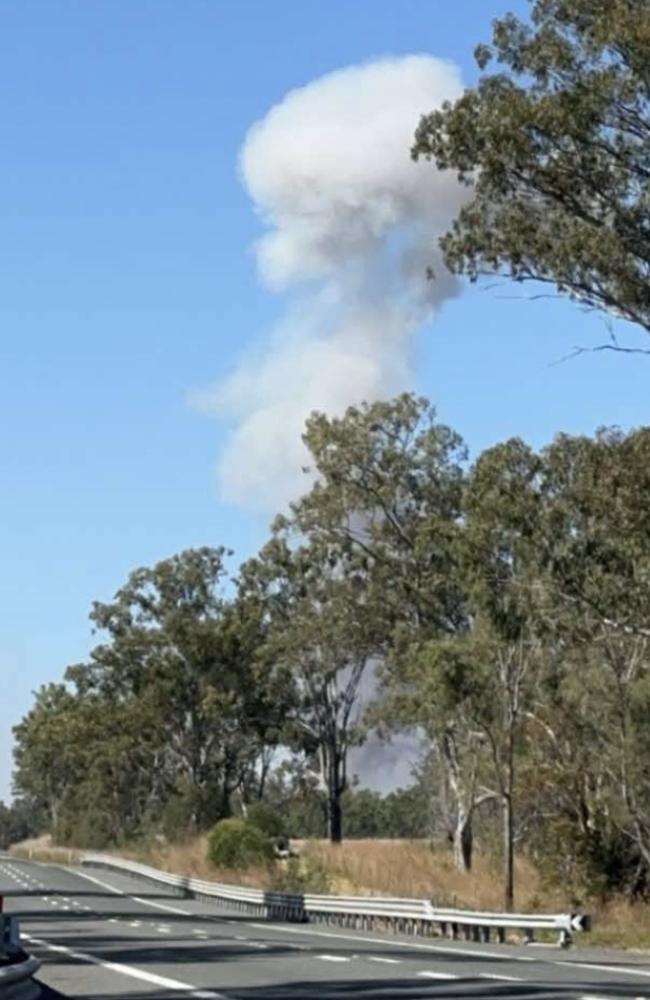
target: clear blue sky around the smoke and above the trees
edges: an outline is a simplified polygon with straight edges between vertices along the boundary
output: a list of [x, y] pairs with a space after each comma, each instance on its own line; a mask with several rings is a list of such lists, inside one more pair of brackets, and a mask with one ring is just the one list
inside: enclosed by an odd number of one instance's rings
[[[507, 0], [5, 0], [0, 6], [0, 797], [31, 691], [92, 642], [135, 566], [265, 518], [219, 501], [226, 427], [188, 393], [282, 309], [259, 282], [238, 177], [248, 127], [291, 88], [386, 54], [452, 59]], [[422, 109], [427, 110], [426, 108]], [[564, 302], [471, 289], [423, 330], [414, 388], [473, 452], [647, 422], [650, 360], [553, 365], [606, 337]]]

